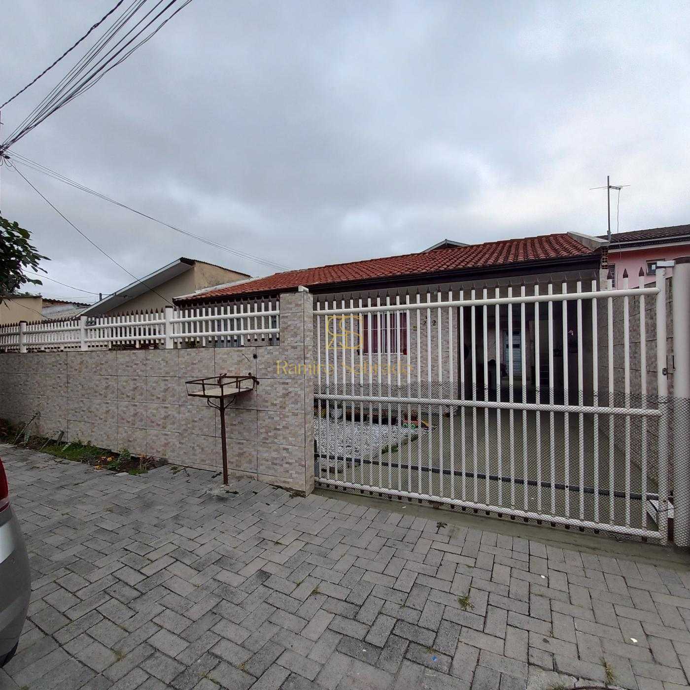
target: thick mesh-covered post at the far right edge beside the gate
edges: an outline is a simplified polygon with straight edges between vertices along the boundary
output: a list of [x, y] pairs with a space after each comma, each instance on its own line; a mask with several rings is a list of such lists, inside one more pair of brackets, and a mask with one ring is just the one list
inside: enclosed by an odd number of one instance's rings
[[673, 268], [673, 542], [690, 546], [690, 257]]

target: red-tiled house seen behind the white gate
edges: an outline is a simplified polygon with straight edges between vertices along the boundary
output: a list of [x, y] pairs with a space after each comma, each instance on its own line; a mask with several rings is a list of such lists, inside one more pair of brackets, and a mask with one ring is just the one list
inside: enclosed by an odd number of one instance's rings
[[[310, 293], [314, 295], [315, 310], [316, 303], [328, 303], [331, 308], [333, 306], [350, 306], [350, 299], [354, 300], [357, 305], [359, 299], [362, 299], [362, 304], [366, 306], [368, 299], [371, 299], [372, 304], [377, 304], [377, 299], [381, 300], [382, 304], [386, 304], [386, 299], [391, 300], [391, 304], [395, 304], [396, 299], [404, 304], [406, 297], [409, 295], [411, 301], [420, 296], [422, 302], [427, 299], [435, 300], [438, 292], [443, 295], [448, 295], [452, 291], [455, 299], [458, 298], [460, 290], [464, 290], [464, 299], [469, 299], [473, 295], [473, 291], [477, 297], [482, 297], [484, 290], [489, 297], [493, 297], [495, 290], [500, 288], [502, 294], [506, 294], [506, 289], [511, 288], [512, 294], [520, 295], [522, 286], [526, 286], [529, 290], [528, 294], [534, 293], [535, 285], [538, 283], [553, 282], [558, 286], [566, 282], [569, 284], [569, 291], [575, 291], [578, 281], [581, 281], [584, 286], [591, 286], [593, 279], [600, 278], [600, 268], [602, 265], [602, 255], [605, 253], [602, 249], [606, 246], [606, 242], [588, 235], [580, 235], [578, 233], [561, 233], [554, 235], [542, 235], [540, 237], [526, 237], [524, 239], [506, 239], [500, 242], [485, 242], [483, 244], [473, 244], [469, 246], [462, 246], [455, 242], [444, 240], [440, 246], [435, 246], [424, 250], [420, 253], [407, 254], [402, 256], [384, 257], [381, 259], [368, 259], [366, 261], [349, 262], [346, 264], [334, 264], [331, 266], [319, 266], [317, 268], [306, 268], [302, 270], [291, 270], [285, 273], [275, 273], [263, 278], [255, 278], [242, 283], [229, 286], [216, 286], [209, 290], [201, 290], [195, 295], [184, 295], [184, 297], [177, 297], [175, 303], [182, 307], [189, 306], [213, 306], [214, 304], [228, 303], [235, 300], [244, 299], [265, 299], [267, 297], [275, 297], [279, 293], [289, 290], [296, 290], [298, 286], [308, 288]], [[542, 288], [546, 289], [546, 288]], [[429, 297], [431, 295], [431, 297]], [[502, 386], [506, 384], [507, 377], [507, 359], [508, 359], [508, 330], [506, 325], [506, 311], [502, 308], [501, 324], [499, 327], [498, 337], [500, 338], [500, 366], [496, 366], [495, 352], [496, 352], [496, 328], [495, 328], [495, 313], [493, 308], [488, 313], [482, 313], [482, 310], [477, 310], [475, 313], [476, 322], [474, 326], [471, 323], [471, 310], [466, 308], [462, 312], [456, 310], [457, 313], [451, 317], [453, 319], [453, 333], [452, 339], [449, 341], [449, 311], [439, 310], [438, 318], [440, 324], [437, 323], [436, 310], [431, 306], [431, 317], [433, 319], [434, 331], [440, 326], [440, 333], [442, 333], [442, 342], [453, 342], [454, 348], [459, 348], [460, 331], [459, 326], [462, 322], [464, 352], [457, 352], [455, 357], [455, 364], [464, 362], [462, 366], [465, 367], [465, 380], [467, 385], [471, 385], [471, 357], [469, 357], [469, 346], [471, 342], [473, 328], [475, 328], [475, 337], [479, 338], [484, 330], [482, 319], [486, 314], [486, 350], [482, 346], [477, 346], [477, 361], [475, 362], [475, 372], [477, 374], [477, 385], [484, 386], [484, 352], [487, 353], [487, 367], [489, 387], [495, 389], [496, 377], [501, 379]], [[589, 304], [584, 305], [584, 317], [589, 317]], [[560, 304], [555, 305], [555, 318], [560, 317]], [[568, 319], [575, 319], [575, 302], [570, 302], [568, 306]], [[315, 311], [317, 313], [317, 311]], [[520, 309], [515, 308], [513, 314], [513, 377], [517, 381], [521, 376], [521, 357], [520, 357], [520, 343], [521, 340], [521, 322]], [[416, 319], [416, 317], [415, 317]], [[525, 319], [525, 340], [526, 343], [526, 370], [527, 382], [529, 385], [533, 384], [535, 378], [535, 367], [540, 366], [544, 368], [549, 356], [549, 348], [547, 347], [547, 333], [546, 327], [546, 308], [542, 308], [540, 312], [539, 329], [535, 329], [534, 324], [534, 309], [528, 310]], [[323, 320], [323, 319], [322, 319]], [[542, 323], [544, 322], [544, 323]], [[353, 324], [353, 329], [359, 333], [359, 342], [362, 343], [364, 354], [368, 355], [369, 336], [372, 335], [371, 342], [373, 348], [378, 348], [380, 342], [381, 352], [384, 355], [393, 355], [397, 357], [397, 342], [398, 334], [400, 333], [401, 352], [400, 355], [407, 355], [406, 339], [408, 334], [408, 326], [410, 328], [410, 349], [413, 353], [417, 352], [417, 337], [420, 339], [426, 337], [426, 310], [422, 314], [422, 322], [420, 329], [422, 333], [417, 333], [416, 321], [412, 324], [407, 324], [406, 315], [400, 315], [400, 321], [391, 326], [382, 326], [377, 319], [368, 319], [364, 317], [360, 322]], [[322, 331], [324, 324], [321, 325]], [[371, 333], [370, 333], [371, 331]], [[535, 333], [540, 333], [540, 362], [537, 365], [534, 359], [534, 340]], [[555, 377], [555, 386], [562, 388], [563, 380], [563, 346], [562, 346], [562, 330], [555, 329], [555, 364], [558, 373]], [[589, 330], [585, 329], [584, 349], [591, 353], [591, 326]], [[325, 333], [321, 333], [320, 337], [323, 340]], [[315, 341], [319, 334], [315, 333]], [[571, 351], [573, 343], [568, 342], [567, 348]], [[589, 348], [589, 349], [588, 349]], [[373, 350], [378, 354], [378, 350]], [[430, 353], [431, 373], [430, 380], [440, 380], [440, 372], [437, 365], [437, 350], [433, 348]], [[447, 354], [444, 355], [447, 357]], [[571, 357], [569, 367], [573, 368], [576, 364], [575, 357]], [[445, 360], [447, 362], [447, 359]], [[560, 366], [559, 363], [560, 362]], [[444, 364], [444, 366], [448, 366]], [[428, 371], [422, 371], [421, 377], [424, 379]], [[574, 369], [573, 369], [574, 375]], [[417, 374], [413, 372], [412, 377], [415, 380]], [[448, 378], [448, 373], [443, 376], [443, 379]], [[452, 377], [455, 382], [460, 379], [459, 371]], [[457, 383], [455, 384], [457, 391]]]

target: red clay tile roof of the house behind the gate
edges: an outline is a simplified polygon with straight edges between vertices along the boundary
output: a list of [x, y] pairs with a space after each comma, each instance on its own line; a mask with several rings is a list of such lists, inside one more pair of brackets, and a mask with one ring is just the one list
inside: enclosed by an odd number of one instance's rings
[[274, 273], [264, 278], [248, 280], [235, 285], [212, 288], [204, 293], [177, 299], [176, 302], [189, 302], [190, 300], [197, 302], [230, 295], [278, 293], [297, 288], [299, 285], [315, 288], [328, 284], [340, 285], [391, 277], [402, 279], [428, 273], [464, 271], [473, 268], [592, 257], [593, 255], [598, 255], [598, 251], [585, 247], [565, 233], [525, 237], [524, 239], [504, 239], [500, 242], [484, 242], [484, 244], [471, 244], [464, 247], [437, 249], [433, 252], [288, 270], [285, 273]]

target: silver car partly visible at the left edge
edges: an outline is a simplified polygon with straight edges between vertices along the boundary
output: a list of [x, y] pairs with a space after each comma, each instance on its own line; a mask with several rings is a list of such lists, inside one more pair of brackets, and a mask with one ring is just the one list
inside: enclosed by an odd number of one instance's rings
[[0, 460], [0, 667], [17, 651], [30, 593], [29, 557]]

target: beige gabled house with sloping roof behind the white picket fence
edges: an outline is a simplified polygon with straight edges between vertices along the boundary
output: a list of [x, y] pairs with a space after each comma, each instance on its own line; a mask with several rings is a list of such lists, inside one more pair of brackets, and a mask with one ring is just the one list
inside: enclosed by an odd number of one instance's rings
[[248, 279], [246, 273], [197, 259], [180, 257], [174, 262], [124, 286], [116, 293], [103, 297], [83, 311], [86, 316], [116, 315], [155, 309], [161, 311], [171, 305], [173, 297], [210, 286], [232, 284]]

